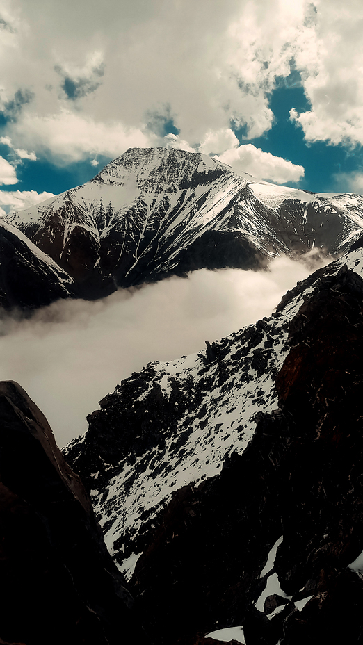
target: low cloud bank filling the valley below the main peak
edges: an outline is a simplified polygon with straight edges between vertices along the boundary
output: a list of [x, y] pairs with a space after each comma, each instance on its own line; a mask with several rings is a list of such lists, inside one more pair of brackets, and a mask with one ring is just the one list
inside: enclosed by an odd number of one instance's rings
[[202, 269], [96, 302], [58, 301], [31, 320], [4, 318], [0, 379], [28, 391], [63, 446], [86, 431], [86, 415], [122, 379], [271, 315], [287, 289], [322, 264], [307, 256], [275, 259], [261, 272]]

